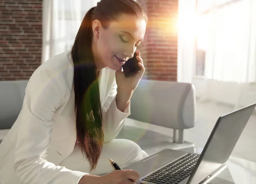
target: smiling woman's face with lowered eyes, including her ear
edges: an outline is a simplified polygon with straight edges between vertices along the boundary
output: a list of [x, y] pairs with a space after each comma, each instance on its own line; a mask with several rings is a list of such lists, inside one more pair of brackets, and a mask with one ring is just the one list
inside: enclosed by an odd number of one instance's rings
[[134, 15], [121, 14], [117, 21], [103, 29], [99, 20], [93, 21], [93, 55], [97, 69], [109, 67], [118, 70], [132, 58], [143, 41], [146, 22]]

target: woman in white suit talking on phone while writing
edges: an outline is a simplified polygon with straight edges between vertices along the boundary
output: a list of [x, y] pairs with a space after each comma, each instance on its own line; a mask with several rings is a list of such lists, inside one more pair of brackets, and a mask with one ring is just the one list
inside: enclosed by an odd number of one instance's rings
[[[85, 15], [71, 51], [33, 73], [21, 112], [0, 144], [0, 184], [132, 184], [139, 174], [112, 170], [147, 157], [114, 139], [130, 115], [145, 71], [125, 78], [123, 61], [143, 40], [147, 16], [134, 0], [101, 0]], [[131, 180], [128, 180], [128, 179]]]

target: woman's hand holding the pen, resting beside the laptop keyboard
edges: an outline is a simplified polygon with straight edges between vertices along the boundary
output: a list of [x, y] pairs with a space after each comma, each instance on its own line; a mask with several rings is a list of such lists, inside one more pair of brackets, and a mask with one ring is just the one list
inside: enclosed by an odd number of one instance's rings
[[134, 170], [114, 170], [102, 176], [84, 175], [79, 184], [135, 184], [139, 177], [140, 174]]

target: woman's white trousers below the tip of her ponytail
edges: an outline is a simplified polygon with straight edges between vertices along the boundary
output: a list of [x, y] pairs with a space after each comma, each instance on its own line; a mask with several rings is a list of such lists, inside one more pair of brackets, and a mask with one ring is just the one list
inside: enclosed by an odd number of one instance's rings
[[90, 164], [83, 157], [78, 144], [75, 145], [73, 152], [61, 162], [60, 166], [92, 175], [102, 175], [113, 171], [108, 158], [111, 158], [122, 168], [146, 157], [148, 157], [148, 154], [141, 150], [140, 146], [135, 142], [127, 139], [113, 139], [111, 142], [103, 144], [98, 164], [92, 172], [90, 172]]

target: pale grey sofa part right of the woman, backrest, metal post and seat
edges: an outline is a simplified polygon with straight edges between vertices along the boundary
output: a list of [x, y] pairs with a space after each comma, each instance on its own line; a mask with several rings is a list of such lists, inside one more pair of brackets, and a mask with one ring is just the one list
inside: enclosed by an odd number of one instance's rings
[[143, 79], [132, 95], [131, 115], [125, 121], [116, 138], [136, 142], [148, 155], [165, 148], [195, 152], [195, 145], [184, 140], [184, 130], [195, 126], [195, 87]]

